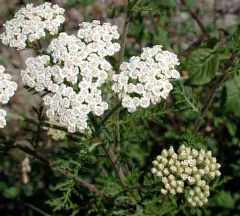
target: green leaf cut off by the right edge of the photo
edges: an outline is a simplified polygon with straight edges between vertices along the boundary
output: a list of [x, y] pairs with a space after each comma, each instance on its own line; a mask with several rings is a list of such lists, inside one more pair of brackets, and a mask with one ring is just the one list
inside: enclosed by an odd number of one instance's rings
[[240, 117], [240, 75], [235, 76], [233, 79], [225, 83], [226, 89], [226, 102], [225, 110], [232, 112]]

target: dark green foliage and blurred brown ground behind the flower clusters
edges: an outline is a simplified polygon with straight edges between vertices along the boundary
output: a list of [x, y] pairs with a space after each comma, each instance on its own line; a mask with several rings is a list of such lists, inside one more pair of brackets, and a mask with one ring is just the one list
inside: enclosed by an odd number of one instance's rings
[[[29, 2], [0, 0], [0, 24]], [[122, 29], [126, 0], [55, 2], [67, 9], [66, 31], [92, 19]], [[96, 136], [68, 135], [63, 141], [48, 136], [39, 98], [21, 88], [10, 105], [9, 125], [0, 131], [1, 215], [240, 215], [239, 2], [131, 0], [129, 5], [124, 58], [162, 44], [179, 55], [182, 80], [167, 102], [134, 114], [120, 109], [104, 126], [93, 119]], [[31, 50], [14, 53], [0, 45], [0, 63], [15, 76], [29, 55]], [[161, 183], [150, 174], [162, 149], [182, 143], [212, 150], [222, 165], [204, 208], [162, 196]], [[31, 165], [27, 184], [21, 171], [25, 157]]]

